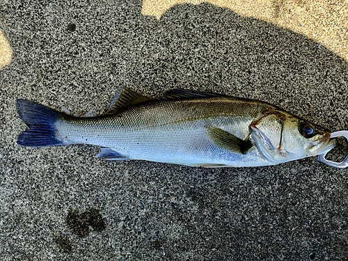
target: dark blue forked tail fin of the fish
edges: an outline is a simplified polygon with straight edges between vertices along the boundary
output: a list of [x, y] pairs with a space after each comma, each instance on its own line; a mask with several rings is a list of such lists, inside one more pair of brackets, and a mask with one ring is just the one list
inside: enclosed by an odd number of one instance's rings
[[28, 100], [17, 100], [19, 117], [29, 129], [19, 134], [17, 144], [24, 147], [63, 145], [56, 137], [55, 122], [62, 113]]

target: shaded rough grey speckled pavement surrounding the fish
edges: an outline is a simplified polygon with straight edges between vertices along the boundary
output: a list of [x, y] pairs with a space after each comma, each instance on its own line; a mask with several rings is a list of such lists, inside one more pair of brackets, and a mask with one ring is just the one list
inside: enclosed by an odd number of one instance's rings
[[[6, 1], [0, 71], [1, 260], [347, 260], [348, 171], [106, 162], [20, 148], [15, 100], [102, 113], [120, 86], [264, 100], [348, 128], [348, 62], [303, 35], [210, 4], [161, 20], [141, 1]], [[70, 25], [69, 25], [70, 24]], [[74, 30], [74, 26], [76, 28]], [[333, 157], [348, 153], [342, 143]]]

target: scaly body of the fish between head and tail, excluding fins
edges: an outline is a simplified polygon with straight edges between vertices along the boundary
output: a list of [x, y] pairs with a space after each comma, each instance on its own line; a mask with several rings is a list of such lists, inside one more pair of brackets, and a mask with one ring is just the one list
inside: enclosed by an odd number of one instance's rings
[[247, 155], [222, 150], [209, 139], [205, 126], [220, 127], [245, 139], [249, 125], [264, 109], [270, 106], [230, 97], [165, 101], [90, 119], [88, 123], [83, 118], [61, 120], [56, 128], [59, 136], [68, 137], [63, 138], [65, 144], [109, 147], [129, 159], [184, 165], [216, 164], [216, 160], [223, 165], [241, 160], [254, 164], [260, 157], [257, 150]]

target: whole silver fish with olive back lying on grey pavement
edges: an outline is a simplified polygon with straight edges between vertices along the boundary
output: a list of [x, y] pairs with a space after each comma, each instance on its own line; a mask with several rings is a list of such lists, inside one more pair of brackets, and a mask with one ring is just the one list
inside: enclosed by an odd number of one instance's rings
[[121, 88], [109, 111], [71, 116], [17, 100], [29, 129], [24, 147], [90, 144], [106, 160], [145, 160], [185, 166], [270, 166], [322, 155], [335, 147], [331, 131], [268, 102], [193, 90], [148, 97]]

